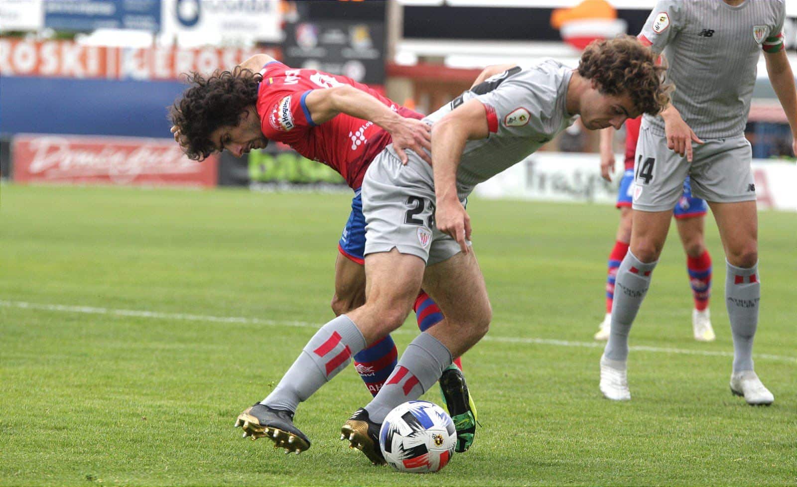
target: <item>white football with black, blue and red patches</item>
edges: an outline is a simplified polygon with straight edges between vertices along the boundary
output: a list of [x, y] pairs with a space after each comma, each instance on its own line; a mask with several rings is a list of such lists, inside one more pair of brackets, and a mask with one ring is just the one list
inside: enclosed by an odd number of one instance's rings
[[410, 401], [387, 414], [379, 430], [379, 448], [399, 472], [437, 472], [457, 446], [451, 417], [437, 404]]

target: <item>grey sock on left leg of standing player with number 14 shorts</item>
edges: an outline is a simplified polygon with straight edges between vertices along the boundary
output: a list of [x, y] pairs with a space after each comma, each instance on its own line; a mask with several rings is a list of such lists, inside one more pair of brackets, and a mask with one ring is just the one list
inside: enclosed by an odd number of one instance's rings
[[628, 334], [642, 300], [650, 287], [650, 274], [658, 261], [645, 264], [629, 250], [622, 259], [614, 281], [614, 303], [611, 306], [611, 333], [603, 355], [625, 362], [628, 359]]

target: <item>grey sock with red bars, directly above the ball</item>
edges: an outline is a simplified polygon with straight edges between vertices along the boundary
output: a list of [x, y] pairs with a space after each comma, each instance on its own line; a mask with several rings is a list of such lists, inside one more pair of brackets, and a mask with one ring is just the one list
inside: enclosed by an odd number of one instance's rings
[[434, 336], [426, 332], [416, 336], [398, 359], [395, 371], [379, 394], [365, 406], [368, 418], [383, 422], [395, 406], [421, 397], [440, 379], [451, 361], [449, 349]]

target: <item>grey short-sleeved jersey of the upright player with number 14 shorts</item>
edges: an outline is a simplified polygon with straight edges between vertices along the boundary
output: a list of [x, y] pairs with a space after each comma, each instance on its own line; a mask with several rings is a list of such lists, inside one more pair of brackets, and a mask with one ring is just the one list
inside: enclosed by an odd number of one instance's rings
[[[650, 13], [639, 39], [664, 53], [673, 105], [698, 137], [744, 133], [761, 49], [783, 38], [784, 1], [734, 7], [722, 0], [659, 0]], [[643, 125], [665, 135], [660, 116], [645, 115]]]

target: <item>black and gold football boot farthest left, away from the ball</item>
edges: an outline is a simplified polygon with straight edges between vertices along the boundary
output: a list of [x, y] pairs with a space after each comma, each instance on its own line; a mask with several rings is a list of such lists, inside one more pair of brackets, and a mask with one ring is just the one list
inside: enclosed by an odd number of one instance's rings
[[244, 438], [269, 438], [274, 442], [274, 448], [285, 448], [286, 454], [298, 455], [310, 448], [310, 439], [293, 426], [293, 413], [289, 410], [257, 403], [238, 414], [235, 427], [238, 426], [244, 430]]

